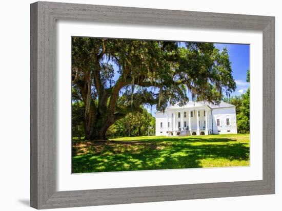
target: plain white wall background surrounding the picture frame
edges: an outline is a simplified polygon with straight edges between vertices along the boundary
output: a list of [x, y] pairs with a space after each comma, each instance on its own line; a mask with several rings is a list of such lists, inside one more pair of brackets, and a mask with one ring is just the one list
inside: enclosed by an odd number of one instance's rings
[[[53, 0], [54, 2], [61, 2]], [[29, 4], [34, 1], [2, 1], [1, 20], [1, 209], [34, 210], [29, 207]], [[282, 103], [282, 13], [277, 0], [199, 0], [199, 1], [127, 1], [127, 0], [64, 0], [69, 3], [147, 7], [190, 11], [238, 13], [276, 16], [276, 108]], [[282, 119], [276, 109], [276, 119]], [[281, 121], [276, 122], [281, 128]], [[56, 210], [281, 210], [282, 135], [276, 130], [276, 194], [217, 199], [168, 201]]]

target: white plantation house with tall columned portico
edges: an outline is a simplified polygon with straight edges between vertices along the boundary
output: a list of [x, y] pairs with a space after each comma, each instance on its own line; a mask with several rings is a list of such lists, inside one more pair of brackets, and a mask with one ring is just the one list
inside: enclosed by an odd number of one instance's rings
[[169, 106], [165, 112], [156, 112], [156, 136], [237, 134], [235, 109], [224, 101]]

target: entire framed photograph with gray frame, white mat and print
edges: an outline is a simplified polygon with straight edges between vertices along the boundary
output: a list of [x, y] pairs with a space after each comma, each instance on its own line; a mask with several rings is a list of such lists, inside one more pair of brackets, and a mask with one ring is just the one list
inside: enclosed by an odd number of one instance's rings
[[275, 193], [275, 18], [31, 4], [31, 206]]

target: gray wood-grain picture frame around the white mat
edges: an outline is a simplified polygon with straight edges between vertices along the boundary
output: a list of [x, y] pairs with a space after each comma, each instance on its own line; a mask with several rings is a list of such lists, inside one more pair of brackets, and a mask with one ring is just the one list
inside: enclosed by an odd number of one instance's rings
[[[131, 7], [31, 4], [30, 204], [37, 209], [275, 193], [275, 17]], [[263, 32], [263, 180], [56, 192], [56, 20]]]

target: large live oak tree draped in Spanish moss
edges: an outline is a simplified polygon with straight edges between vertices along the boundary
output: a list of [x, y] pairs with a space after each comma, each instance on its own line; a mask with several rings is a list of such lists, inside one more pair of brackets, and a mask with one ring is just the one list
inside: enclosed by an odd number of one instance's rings
[[227, 50], [208, 43], [72, 38], [72, 100], [84, 104], [85, 139], [106, 139], [110, 125], [140, 105], [219, 101], [236, 88]]

